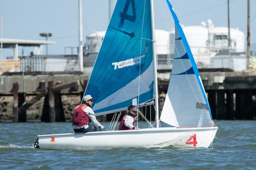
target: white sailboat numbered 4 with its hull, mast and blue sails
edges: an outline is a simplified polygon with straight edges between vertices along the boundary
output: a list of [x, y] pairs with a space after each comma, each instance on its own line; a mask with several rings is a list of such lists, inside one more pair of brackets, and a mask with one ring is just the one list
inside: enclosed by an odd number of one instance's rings
[[38, 135], [34, 147], [91, 150], [210, 146], [218, 127], [179, 20], [170, 1], [166, 2], [175, 23], [175, 53], [161, 117], [153, 0], [117, 0], [84, 95], [93, 96], [96, 116], [114, 113], [115, 121], [129, 105], [154, 106], [154, 123], [146, 120], [148, 128], [116, 130], [117, 122], [111, 122], [103, 131]]

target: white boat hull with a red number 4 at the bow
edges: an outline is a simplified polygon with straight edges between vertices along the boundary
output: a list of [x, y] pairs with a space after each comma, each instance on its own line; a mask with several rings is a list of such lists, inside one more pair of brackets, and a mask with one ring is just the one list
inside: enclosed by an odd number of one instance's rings
[[[147, 128], [38, 135], [41, 149], [92, 150], [128, 147], [209, 147], [218, 127]], [[36, 142], [37, 143], [37, 142]], [[36, 147], [36, 146], [34, 146]]]

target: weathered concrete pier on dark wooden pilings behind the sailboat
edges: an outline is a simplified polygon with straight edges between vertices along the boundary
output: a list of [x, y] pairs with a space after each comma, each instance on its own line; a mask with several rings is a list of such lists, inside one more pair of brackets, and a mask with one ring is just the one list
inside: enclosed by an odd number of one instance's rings
[[[255, 72], [233, 72], [230, 70], [209, 72], [201, 70], [200, 75], [208, 95], [213, 119], [256, 119]], [[166, 93], [170, 70], [159, 71], [158, 78], [160, 93]], [[63, 109], [62, 96], [76, 95], [79, 99], [77, 104], [79, 104], [88, 79], [89, 75], [82, 72], [69, 72], [68, 74], [63, 72], [5, 74], [0, 76], [0, 82], [3, 82], [0, 86], [0, 97], [13, 96], [13, 122], [26, 122], [26, 110], [43, 97], [41, 121], [61, 122], [67, 119], [64, 114], [66, 111]], [[26, 96], [29, 95], [33, 98], [30, 101], [25, 101]], [[163, 101], [164, 99], [161, 99], [161, 102]], [[5, 111], [4, 107], [2, 103], [0, 114]], [[72, 109], [73, 106], [68, 112], [72, 112]], [[101, 119], [102, 121], [111, 121], [112, 116], [107, 115]], [[2, 121], [1, 115], [0, 121]]]

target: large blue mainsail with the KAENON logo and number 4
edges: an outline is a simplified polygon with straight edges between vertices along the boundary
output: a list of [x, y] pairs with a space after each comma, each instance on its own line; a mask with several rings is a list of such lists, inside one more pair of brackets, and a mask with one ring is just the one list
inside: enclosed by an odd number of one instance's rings
[[84, 95], [96, 116], [153, 99], [150, 0], [117, 1]]

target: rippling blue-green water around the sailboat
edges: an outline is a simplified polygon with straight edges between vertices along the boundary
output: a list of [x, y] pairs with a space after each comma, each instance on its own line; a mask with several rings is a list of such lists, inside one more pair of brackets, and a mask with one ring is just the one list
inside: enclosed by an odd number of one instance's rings
[[73, 132], [71, 123], [0, 123], [0, 169], [256, 169], [256, 121], [215, 124], [219, 130], [209, 148], [56, 151], [33, 148], [36, 135]]

